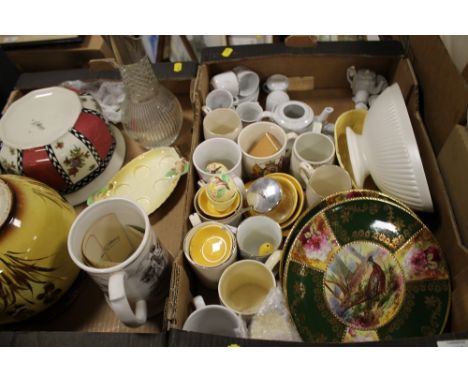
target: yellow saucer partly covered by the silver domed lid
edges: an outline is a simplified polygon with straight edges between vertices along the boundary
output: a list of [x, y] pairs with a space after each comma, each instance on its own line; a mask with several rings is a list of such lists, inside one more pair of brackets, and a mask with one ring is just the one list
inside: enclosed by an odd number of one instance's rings
[[[270, 212], [260, 214], [255, 211], [249, 211], [250, 215], [264, 215], [272, 218], [278, 224], [282, 225], [287, 222], [294, 214], [297, 209], [298, 204], [298, 192], [294, 185], [294, 182], [290, 179], [290, 175], [284, 173], [272, 173], [266, 175], [269, 178], [276, 180], [283, 192], [283, 196], [281, 198], [280, 203], [272, 209]], [[246, 188], [250, 186], [250, 183], [246, 184]]]

